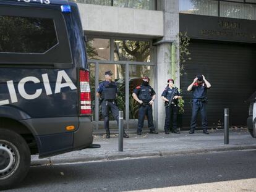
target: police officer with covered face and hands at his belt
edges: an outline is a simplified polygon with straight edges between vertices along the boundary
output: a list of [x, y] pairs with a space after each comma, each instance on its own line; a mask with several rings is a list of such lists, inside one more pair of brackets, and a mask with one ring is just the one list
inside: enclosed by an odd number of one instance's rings
[[132, 93], [133, 98], [140, 103], [139, 106], [139, 117], [138, 117], [138, 129], [137, 134], [142, 135], [142, 128], [144, 124], [145, 115], [147, 115], [148, 119], [148, 128], [150, 128], [150, 133], [158, 134], [155, 131], [153, 125], [153, 115], [152, 115], [152, 104], [154, 99], [156, 98], [156, 93], [148, 85], [150, 79], [148, 77], [142, 78], [142, 85], [137, 86], [134, 89], [134, 93]]

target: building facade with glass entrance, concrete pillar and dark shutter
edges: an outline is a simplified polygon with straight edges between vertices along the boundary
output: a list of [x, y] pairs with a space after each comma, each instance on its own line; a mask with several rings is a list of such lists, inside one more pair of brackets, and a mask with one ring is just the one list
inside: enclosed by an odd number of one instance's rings
[[[150, 77], [156, 91], [155, 127], [164, 127], [161, 93], [168, 78], [182, 89], [182, 124], [189, 127], [191, 94], [186, 90], [197, 73], [212, 84], [208, 92], [209, 127], [221, 126], [226, 107], [234, 125], [245, 125], [248, 106], [244, 101], [256, 90], [256, 1], [74, 1], [88, 39], [95, 131], [103, 128], [95, 91], [106, 70], [113, 71], [119, 86], [117, 102], [129, 130], [137, 128], [138, 104], [131, 94], [143, 76]], [[180, 32], [190, 38], [190, 59], [184, 64], [179, 61]], [[184, 70], [180, 70], [181, 65]], [[112, 127], [117, 128], [115, 122]]]

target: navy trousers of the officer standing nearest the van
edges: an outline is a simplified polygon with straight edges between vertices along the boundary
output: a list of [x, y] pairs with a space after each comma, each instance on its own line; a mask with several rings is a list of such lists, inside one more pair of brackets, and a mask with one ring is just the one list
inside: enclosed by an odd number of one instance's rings
[[116, 106], [116, 102], [110, 102], [110, 101], [103, 101], [101, 102], [101, 110], [102, 115], [104, 117], [104, 128], [106, 130], [109, 130], [109, 111], [111, 111], [114, 119], [117, 121], [118, 125], [118, 119], [119, 119], [119, 109]]

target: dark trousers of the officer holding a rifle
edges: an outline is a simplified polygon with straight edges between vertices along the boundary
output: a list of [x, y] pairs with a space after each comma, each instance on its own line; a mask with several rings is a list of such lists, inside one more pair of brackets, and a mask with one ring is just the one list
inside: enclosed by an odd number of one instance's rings
[[177, 130], [177, 114], [178, 107], [171, 105], [165, 107], [165, 123], [164, 123], [164, 131], [169, 131], [171, 119], [173, 119], [173, 131]]

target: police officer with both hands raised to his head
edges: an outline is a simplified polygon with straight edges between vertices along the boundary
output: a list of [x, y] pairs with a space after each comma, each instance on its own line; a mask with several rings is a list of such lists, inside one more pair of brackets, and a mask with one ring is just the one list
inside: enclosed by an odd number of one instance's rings
[[197, 75], [188, 86], [187, 91], [192, 91], [192, 117], [190, 122], [190, 131], [189, 134], [193, 134], [195, 127], [197, 125], [197, 114], [200, 111], [202, 118], [202, 127], [203, 133], [209, 134], [207, 131], [207, 113], [206, 113], [206, 104], [207, 104], [207, 89], [211, 87], [211, 84], [205, 79], [203, 75]]

